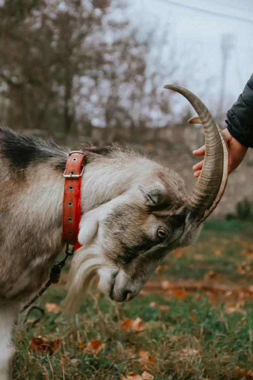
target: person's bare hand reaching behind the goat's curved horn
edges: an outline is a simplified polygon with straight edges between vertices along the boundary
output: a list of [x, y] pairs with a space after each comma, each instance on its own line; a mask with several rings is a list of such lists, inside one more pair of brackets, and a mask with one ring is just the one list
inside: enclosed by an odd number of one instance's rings
[[[222, 131], [222, 134], [227, 142], [228, 145], [228, 151], [229, 151], [229, 167], [228, 167], [228, 174], [230, 174], [233, 170], [239, 166], [239, 164], [242, 162], [245, 154], [247, 153], [248, 148], [241, 145], [226, 129]], [[205, 156], [206, 147], [203, 145], [203, 147], [193, 150], [192, 154], [194, 156]], [[203, 167], [203, 161], [200, 161], [198, 164], [195, 164], [192, 169], [195, 170], [194, 177], [198, 178], [201, 169]]]

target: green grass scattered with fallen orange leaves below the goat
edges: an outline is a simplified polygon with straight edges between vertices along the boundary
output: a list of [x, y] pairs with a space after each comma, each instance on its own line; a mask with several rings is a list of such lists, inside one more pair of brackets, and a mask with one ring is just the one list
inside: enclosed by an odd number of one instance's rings
[[[118, 380], [132, 371], [146, 371], [155, 380], [253, 379], [251, 296], [227, 292], [217, 301], [203, 289], [151, 291], [153, 283], [202, 281], [210, 271], [209, 281], [250, 285], [252, 235], [251, 224], [211, 220], [196, 246], [168, 255], [148, 291], [131, 302], [115, 306], [93, 289], [71, 321], [55, 322], [60, 313], [46, 312], [33, 327], [34, 311], [18, 331], [13, 379]], [[59, 305], [65, 294], [53, 286], [38, 304]], [[141, 318], [138, 328], [124, 330], [126, 318]], [[29, 347], [39, 335], [61, 342], [40, 352]], [[101, 341], [98, 350], [89, 349], [93, 340]]]

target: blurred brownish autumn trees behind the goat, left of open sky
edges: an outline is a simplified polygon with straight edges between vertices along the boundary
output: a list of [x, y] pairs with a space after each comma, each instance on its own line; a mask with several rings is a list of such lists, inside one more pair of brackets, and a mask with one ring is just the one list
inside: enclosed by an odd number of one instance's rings
[[136, 137], [161, 120], [165, 126], [171, 110], [162, 85], [178, 62], [172, 46], [170, 64], [159, 63], [153, 45], [166, 44], [169, 31], [139, 30], [124, 16], [127, 7], [116, 0], [5, 0], [1, 124], [86, 136], [97, 125], [105, 139], [110, 128]]

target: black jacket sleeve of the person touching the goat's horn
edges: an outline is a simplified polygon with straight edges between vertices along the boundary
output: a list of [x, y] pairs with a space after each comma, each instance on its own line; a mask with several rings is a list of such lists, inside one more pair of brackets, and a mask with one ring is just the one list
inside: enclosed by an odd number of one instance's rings
[[253, 148], [253, 74], [227, 113], [227, 129], [241, 145]]

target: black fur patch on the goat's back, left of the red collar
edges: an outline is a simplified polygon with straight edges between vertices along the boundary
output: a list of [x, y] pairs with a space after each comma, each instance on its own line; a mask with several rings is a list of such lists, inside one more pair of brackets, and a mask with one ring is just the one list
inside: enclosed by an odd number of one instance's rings
[[19, 170], [53, 158], [55, 167], [64, 171], [67, 161], [66, 151], [57, 144], [6, 128], [0, 128], [0, 153]]

